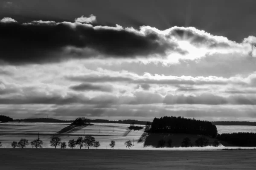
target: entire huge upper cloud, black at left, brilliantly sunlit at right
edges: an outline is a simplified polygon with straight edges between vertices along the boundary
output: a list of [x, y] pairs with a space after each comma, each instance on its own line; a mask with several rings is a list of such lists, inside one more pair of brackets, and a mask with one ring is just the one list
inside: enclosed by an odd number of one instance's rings
[[141, 58], [172, 63], [216, 53], [238, 52], [254, 56], [251, 45], [248, 45], [254, 40], [253, 36], [238, 43], [194, 27], [159, 30], [150, 26], [139, 29], [119, 25], [94, 26], [90, 23], [95, 18], [94, 15], [82, 16], [76, 18], [75, 23], [43, 20], [17, 23], [12, 18], [3, 18], [0, 22], [0, 51], [3, 54], [0, 60], [14, 65], [74, 58]]

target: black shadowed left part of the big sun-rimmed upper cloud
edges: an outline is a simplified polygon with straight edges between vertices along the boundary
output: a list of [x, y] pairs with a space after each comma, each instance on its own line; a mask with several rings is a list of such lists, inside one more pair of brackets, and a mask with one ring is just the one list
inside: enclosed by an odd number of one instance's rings
[[[67, 46], [73, 48], [64, 54]], [[166, 49], [178, 51], [176, 47], [175, 43], [167, 43], [153, 32], [142, 35], [124, 29], [54, 21], [0, 22], [0, 60], [11, 64], [55, 62], [99, 54], [147, 57], [164, 54]]]

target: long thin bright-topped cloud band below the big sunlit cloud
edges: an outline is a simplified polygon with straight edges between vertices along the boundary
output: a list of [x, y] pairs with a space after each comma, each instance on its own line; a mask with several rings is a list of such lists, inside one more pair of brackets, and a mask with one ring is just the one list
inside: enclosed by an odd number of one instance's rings
[[[109, 72], [108, 74], [116, 74], [116, 72]], [[124, 82], [134, 84], [158, 84], [158, 85], [249, 85], [253, 80], [253, 76], [242, 77], [191, 77], [191, 76], [165, 76], [165, 75], [151, 75], [145, 73], [143, 76], [137, 74], [116, 74], [113, 76], [106, 74], [84, 74], [78, 76], [65, 76], [66, 79], [78, 82]], [[252, 79], [252, 80], [251, 80]], [[147, 85], [146, 85], [147, 86]]]

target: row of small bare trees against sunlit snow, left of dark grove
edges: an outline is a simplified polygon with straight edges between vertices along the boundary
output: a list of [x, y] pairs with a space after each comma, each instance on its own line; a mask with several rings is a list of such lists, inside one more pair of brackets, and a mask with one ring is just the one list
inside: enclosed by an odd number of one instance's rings
[[[53, 136], [51, 137], [50, 140], [50, 146], [54, 147], [56, 149], [56, 147], [60, 146], [61, 149], [65, 149], [67, 146], [70, 148], [74, 148], [74, 147], [79, 147], [80, 149], [82, 147], [87, 147], [88, 149], [90, 149], [90, 147], [96, 147], [96, 149], [98, 149], [98, 147], [100, 147], [100, 143], [99, 141], [96, 141], [95, 138], [93, 136], [87, 135], [84, 138], [79, 136], [77, 137], [77, 139], [70, 139], [68, 144], [66, 144], [66, 142], [61, 142], [61, 138], [59, 138], [58, 136]], [[16, 147], [20, 147], [20, 148], [25, 148], [29, 145], [29, 141], [27, 139], [20, 139], [19, 142], [13, 141], [11, 143], [11, 146], [13, 148]], [[42, 148], [43, 147], [43, 141], [38, 139], [35, 139], [33, 141], [30, 142], [30, 145], [32, 147], [35, 148]], [[131, 140], [128, 140], [125, 142], [126, 147], [128, 147], [130, 149], [130, 147], [132, 147], [132, 142]], [[1, 142], [0, 142], [0, 147], [2, 146]], [[111, 140], [109, 146], [114, 149], [114, 147], [116, 146], [116, 142], [114, 140]]]

